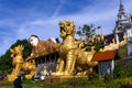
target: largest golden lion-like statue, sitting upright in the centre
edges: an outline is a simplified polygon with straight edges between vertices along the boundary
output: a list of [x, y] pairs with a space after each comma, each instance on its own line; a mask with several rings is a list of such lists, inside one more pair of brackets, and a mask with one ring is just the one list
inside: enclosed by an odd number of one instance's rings
[[90, 62], [95, 51], [85, 52], [80, 48], [80, 45], [75, 41], [75, 24], [69, 20], [59, 22], [61, 37], [63, 42], [59, 46], [59, 58], [56, 73], [52, 75], [72, 75], [77, 68], [81, 67], [82, 72], [91, 70], [96, 66], [97, 62]]

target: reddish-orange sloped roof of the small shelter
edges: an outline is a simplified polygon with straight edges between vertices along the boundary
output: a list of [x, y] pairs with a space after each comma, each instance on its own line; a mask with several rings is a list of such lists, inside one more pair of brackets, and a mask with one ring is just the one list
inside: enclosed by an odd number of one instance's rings
[[110, 61], [114, 59], [116, 51], [106, 51], [100, 53], [95, 53], [91, 62], [100, 62], [100, 61]]

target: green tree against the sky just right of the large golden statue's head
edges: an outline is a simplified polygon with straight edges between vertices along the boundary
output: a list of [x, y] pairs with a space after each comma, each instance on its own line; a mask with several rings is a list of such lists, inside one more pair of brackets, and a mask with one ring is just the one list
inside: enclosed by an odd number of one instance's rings
[[[85, 38], [85, 51], [89, 52], [91, 51], [91, 46], [95, 46], [95, 51], [96, 52], [99, 52], [100, 48], [103, 47], [103, 43], [102, 42], [96, 42], [96, 43], [92, 43], [91, 42], [91, 38], [92, 36], [96, 34], [96, 30], [100, 30], [101, 26], [97, 26], [95, 28], [94, 24], [84, 24], [82, 28], [79, 28], [79, 30], [76, 32], [77, 35], [79, 35], [80, 40], [81, 38]], [[99, 36], [99, 35], [97, 35]]]

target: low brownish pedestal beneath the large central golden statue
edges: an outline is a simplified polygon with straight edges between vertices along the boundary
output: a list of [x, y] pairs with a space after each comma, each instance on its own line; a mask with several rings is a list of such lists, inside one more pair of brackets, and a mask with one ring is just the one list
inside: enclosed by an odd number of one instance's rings
[[45, 85], [56, 85], [66, 81], [68, 78], [88, 78], [87, 76], [51, 76], [44, 79]]

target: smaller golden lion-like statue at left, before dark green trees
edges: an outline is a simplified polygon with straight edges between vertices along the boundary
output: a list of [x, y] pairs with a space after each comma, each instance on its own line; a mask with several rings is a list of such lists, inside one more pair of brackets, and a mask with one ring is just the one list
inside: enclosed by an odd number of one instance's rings
[[15, 78], [19, 76], [20, 72], [28, 72], [29, 74], [25, 75], [26, 79], [31, 79], [32, 76], [34, 76], [36, 67], [35, 67], [35, 62], [34, 61], [29, 61], [25, 62], [23, 59], [22, 51], [24, 47], [22, 45], [19, 45], [14, 48], [10, 48], [11, 57], [12, 57], [12, 65], [13, 65], [13, 70], [11, 75], [8, 75], [8, 81], [13, 81]]

